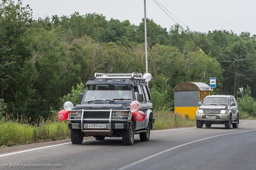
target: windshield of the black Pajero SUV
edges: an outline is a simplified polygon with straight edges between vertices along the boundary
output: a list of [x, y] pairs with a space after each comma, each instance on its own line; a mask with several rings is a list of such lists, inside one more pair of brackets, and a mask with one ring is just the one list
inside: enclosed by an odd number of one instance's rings
[[127, 100], [132, 101], [130, 85], [91, 85], [84, 97], [84, 102], [101, 100]]

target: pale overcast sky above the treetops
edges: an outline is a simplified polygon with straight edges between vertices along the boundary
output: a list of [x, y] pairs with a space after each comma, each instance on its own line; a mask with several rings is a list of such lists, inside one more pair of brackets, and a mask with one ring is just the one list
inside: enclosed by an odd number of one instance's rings
[[[191, 30], [208, 32], [225, 29], [237, 34], [240, 32], [256, 34], [255, 0], [157, 1]], [[131, 23], [138, 25], [144, 17], [143, 0], [23, 0], [23, 5], [26, 4], [32, 8], [35, 18], [70, 15], [75, 11], [81, 15], [96, 12], [105, 15], [108, 20], [110, 18], [120, 21], [128, 19]], [[153, 19], [155, 23], [167, 30], [175, 24], [153, 0], [146, 0], [146, 12], [147, 18]], [[170, 16], [175, 19], [172, 15]], [[179, 23], [177, 20], [176, 22]], [[185, 28], [182, 23], [179, 24]]]

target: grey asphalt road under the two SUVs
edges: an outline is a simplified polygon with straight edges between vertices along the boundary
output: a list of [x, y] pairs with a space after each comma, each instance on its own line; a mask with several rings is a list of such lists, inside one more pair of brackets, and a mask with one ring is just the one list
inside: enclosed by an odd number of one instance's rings
[[[124, 146], [121, 138], [84, 138], [82, 145], [67, 142], [0, 154], [0, 169], [8, 169], [8, 164], [12, 168], [15, 164], [61, 164], [61, 169], [256, 170], [256, 120], [241, 120], [237, 129], [230, 130], [213, 125], [151, 131], [148, 142], [140, 142], [135, 135], [132, 146]], [[46, 168], [57, 167], [37, 169]]]

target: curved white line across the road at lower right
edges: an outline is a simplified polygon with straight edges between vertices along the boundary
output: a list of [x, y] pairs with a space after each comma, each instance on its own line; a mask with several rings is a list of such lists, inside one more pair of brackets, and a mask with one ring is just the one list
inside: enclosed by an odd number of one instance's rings
[[[256, 130], [256, 129], [254, 129], [254, 130]], [[250, 131], [254, 131], [254, 130], [247, 130], [247, 131], [243, 131], [243, 132], [235, 132], [235, 133], [230, 133], [230, 134], [239, 134], [239, 133], [250, 132]], [[143, 162], [143, 161], [145, 161], [145, 160], [147, 160], [147, 159], [153, 158], [153, 157], [155, 157], [155, 156], [158, 156], [158, 155], [163, 154], [163, 153], [165, 153], [165, 152], [171, 151], [171, 150], [176, 149], [176, 148], [178, 148], [178, 147], [183, 147], [183, 146], [188, 145], [188, 144], [191, 144], [191, 143], [195, 143], [195, 142], [199, 142], [199, 141], [202, 141], [202, 140], [206, 140], [206, 139], [210, 139], [210, 138], [215, 138], [215, 137], [219, 137], [219, 136], [224, 136], [224, 135], [228, 135], [228, 134], [221, 134], [221, 135], [217, 135], [217, 136], [212, 136], [212, 137], [208, 137], [208, 138], [199, 139], [199, 140], [196, 140], [196, 141], [193, 141], [193, 142], [184, 143], [184, 144], [179, 145], [179, 146], [177, 146], [177, 147], [172, 147], [172, 148], [170, 148], [170, 149], [167, 149], [167, 150], [158, 152], [158, 153], [156, 153], [156, 154], [154, 154], [154, 155], [151, 155], [151, 156], [148, 156], [148, 157], [143, 158], [143, 159], [141, 159], [141, 160], [138, 160], [138, 161], [136, 161], [136, 162], [134, 162], [134, 163], [132, 163], [132, 164], [128, 164], [128, 165], [126, 165], [126, 166], [124, 166], [124, 167], [122, 167], [122, 168], [119, 168], [118, 170], [123, 170], [123, 169], [130, 168], [130, 167], [132, 167], [133, 165], [139, 164], [139, 163], [141, 163], [141, 162]]]

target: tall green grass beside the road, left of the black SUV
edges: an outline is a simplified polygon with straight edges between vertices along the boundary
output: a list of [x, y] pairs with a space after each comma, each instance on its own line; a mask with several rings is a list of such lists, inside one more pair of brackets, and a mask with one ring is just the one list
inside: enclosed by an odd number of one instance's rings
[[69, 136], [67, 121], [40, 119], [28, 123], [26, 119], [14, 119], [10, 116], [0, 121], [0, 147], [61, 140]]

